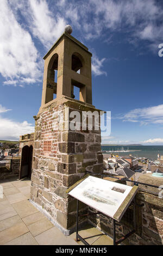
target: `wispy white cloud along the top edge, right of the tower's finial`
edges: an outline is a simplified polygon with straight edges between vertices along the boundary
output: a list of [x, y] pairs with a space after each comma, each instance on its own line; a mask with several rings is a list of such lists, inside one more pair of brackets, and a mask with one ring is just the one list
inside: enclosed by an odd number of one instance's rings
[[155, 46], [162, 40], [163, 10], [156, 0], [90, 0], [79, 4], [64, 0], [58, 7], [87, 40], [102, 37], [106, 41], [112, 32], [127, 32], [132, 43], [141, 39]]

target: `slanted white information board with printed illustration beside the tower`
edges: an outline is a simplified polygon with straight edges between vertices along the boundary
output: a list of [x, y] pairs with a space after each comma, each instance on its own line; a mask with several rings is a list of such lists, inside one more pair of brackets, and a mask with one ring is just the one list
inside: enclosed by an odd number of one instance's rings
[[120, 221], [138, 187], [89, 176], [68, 194], [97, 211]]

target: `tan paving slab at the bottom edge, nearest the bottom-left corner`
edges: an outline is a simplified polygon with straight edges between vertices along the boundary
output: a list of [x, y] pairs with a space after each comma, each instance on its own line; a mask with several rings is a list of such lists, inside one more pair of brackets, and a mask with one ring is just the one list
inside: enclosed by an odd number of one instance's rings
[[8, 243], [5, 243], [5, 245], [38, 245], [38, 243], [34, 239], [33, 235], [30, 232], [28, 232]]

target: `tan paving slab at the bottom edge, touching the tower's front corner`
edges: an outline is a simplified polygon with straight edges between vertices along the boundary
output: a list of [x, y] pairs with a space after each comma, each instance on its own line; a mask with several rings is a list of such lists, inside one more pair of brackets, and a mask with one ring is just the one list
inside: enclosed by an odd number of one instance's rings
[[35, 239], [39, 245], [78, 245], [70, 236], [65, 236], [56, 227], [35, 236]]

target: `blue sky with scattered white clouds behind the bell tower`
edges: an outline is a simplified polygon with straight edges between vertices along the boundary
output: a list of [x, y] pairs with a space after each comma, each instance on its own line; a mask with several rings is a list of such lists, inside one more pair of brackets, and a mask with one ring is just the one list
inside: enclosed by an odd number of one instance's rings
[[93, 105], [111, 111], [102, 143], [162, 145], [163, 3], [154, 0], [1, 0], [0, 139], [34, 131], [42, 57], [66, 24], [93, 54]]

